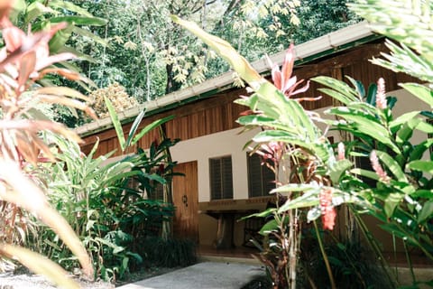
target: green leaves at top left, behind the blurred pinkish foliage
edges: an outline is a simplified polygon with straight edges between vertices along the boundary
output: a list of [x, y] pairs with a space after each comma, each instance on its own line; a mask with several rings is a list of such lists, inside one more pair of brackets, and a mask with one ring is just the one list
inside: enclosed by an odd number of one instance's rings
[[[56, 67], [64, 70], [80, 72], [80, 61], [97, 62], [88, 53], [77, 49], [72, 39], [80, 42], [91, 40], [97, 46], [106, 47], [108, 43], [93, 33], [95, 27], [106, 25], [107, 21], [88, 13], [79, 5], [69, 0], [41, 1], [41, 0], [15, 0], [14, 9], [11, 11], [11, 21], [24, 31], [32, 33], [49, 29], [58, 23], [65, 23], [65, 27], [57, 31], [48, 43], [51, 53], [72, 53], [75, 61], [63, 61], [54, 63]], [[95, 83], [87, 79], [74, 79], [70, 81], [60, 73], [51, 73], [43, 79], [37, 80], [41, 86], [66, 86], [76, 88], [79, 91], [95, 89]], [[43, 113], [51, 120], [60, 122], [69, 127], [79, 126], [88, 121], [88, 117], [73, 107], [62, 107], [58, 104], [45, 105]]]

